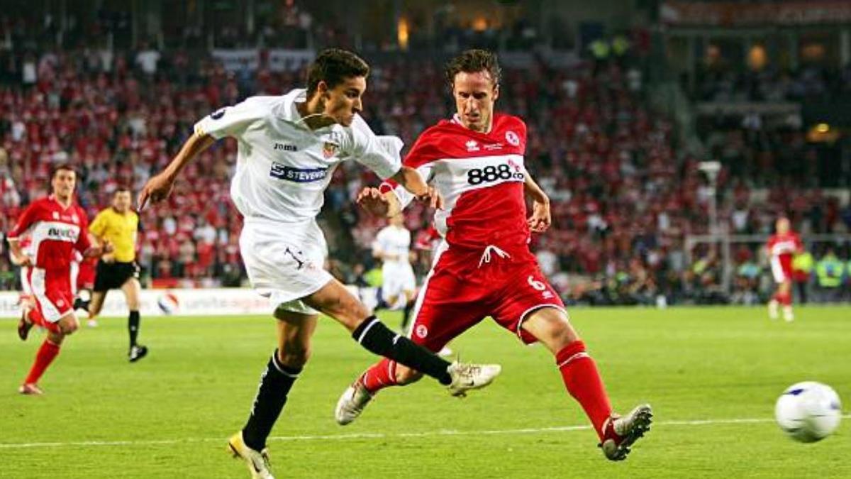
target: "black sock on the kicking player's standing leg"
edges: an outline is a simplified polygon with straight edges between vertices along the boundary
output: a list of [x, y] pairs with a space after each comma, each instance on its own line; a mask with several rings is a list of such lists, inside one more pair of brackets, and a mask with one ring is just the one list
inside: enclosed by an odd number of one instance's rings
[[299, 378], [301, 368], [283, 366], [277, 361], [277, 349], [271, 355], [266, 371], [260, 375], [260, 387], [254, 397], [251, 415], [243, 428], [243, 441], [255, 451], [266, 447], [266, 437], [269, 437], [271, 427], [281, 415], [283, 405], [287, 403], [289, 389]]

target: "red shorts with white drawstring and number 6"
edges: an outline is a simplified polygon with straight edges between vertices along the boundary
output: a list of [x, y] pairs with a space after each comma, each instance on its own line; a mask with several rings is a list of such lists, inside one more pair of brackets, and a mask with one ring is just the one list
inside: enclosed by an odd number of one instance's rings
[[494, 254], [489, 263], [467, 263], [465, 274], [448, 267], [458, 264], [458, 258], [450, 255], [447, 251], [438, 257], [417, 297], [409, 333], [414, 343], [439, 351], [487, 316], [523, 343], [534, 343], [537, 339], [522, 328], [526, 316], [545, 307], [564, 310], [531, 254], [522, 258]]

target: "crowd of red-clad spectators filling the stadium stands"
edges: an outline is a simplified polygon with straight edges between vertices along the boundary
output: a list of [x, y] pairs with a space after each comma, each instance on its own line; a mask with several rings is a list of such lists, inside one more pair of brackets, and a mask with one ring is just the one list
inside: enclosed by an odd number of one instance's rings
[[[411, 145], [426, 125], [443, 118], [449, 100], [437, 63], [376, 64], [364, 117], [382, 134]], [[78, 199], [94, 211], [119, 184], [134, 190], [176, 153], [197, 119], [247, 95], [277, 95], [301, 83], [300, 72], [226, 72], [208, 58], [150, 47], [104, 55], [98, 50], [17, 52], [5, 59], [0, 86], [0, 229], [46, 192], [52, 164], [79, 171]], [[420, 85], [412, 89], [410, 85]], [[554, 228], [534, 238], [545, 274], [568, 300], [586, 303], [726, 301], [714, 248], [685, 251], [688, 234], [709, 231], [711, 194], [699, 159], [679, 147], [671, 121], [650, 111], [642, 72], [616, 62], [552, 69], [505, 69], [498, 106], [525, 118], [527, 164], [552, 200]], [[794, 133], [794, 132], [793, 132]], [[728, 133], [748, 137], [745, 130]], [[800, 138], [797, 141], [801, 141]], [[782, 171], [808, 158], [808, 145], [786, 151], [768, 143], [762, 156], [747, 142], [720, 142], [725, 164], [763, 158]], [[236, 286], [244, 280], [237, 237], [241, 220], [228, 199], [236, 144], [222, 141], [183, 176], [169, 207], [141, 212], [139, 262], [158, 285]], [[719, 218], [737, 233], [768, 234], [780, 212], [808, 232], [851, 231], [851, 205], [797, 183], [765, 185], [747, 169], [725, 168], [718, 179]], [[792, 172], [792, 176], [796, 173]], [[346, 164], [334, 172], [326, 215], [334, 228], [334, 271], [355, 281], [371, 268], [369, 245], [382, 223], [352, 205], [355, 192], [377, 182]], [[800, 185], [814, 186], [814, 185]], [[431, 217], [414, 205], [408, 228]], [[355, 247], [352, 248], [351, 246]], [[346, 254], [357, 251], [357, 254]], [[339, 254], [338, 254], [339, 253]], [[690, 254], [695, 261], [688, 263]], [[841, 251], [842, 256], [844, 251]], [[737, 264], [765, 271], [756, 248], [736, 252]], [[359, 264], [363, 263], [363, 264]], [[0, 255], [0, 289], [14, 287], [14, 268]], [[737, 282], [737, 285], [739, 283]]]

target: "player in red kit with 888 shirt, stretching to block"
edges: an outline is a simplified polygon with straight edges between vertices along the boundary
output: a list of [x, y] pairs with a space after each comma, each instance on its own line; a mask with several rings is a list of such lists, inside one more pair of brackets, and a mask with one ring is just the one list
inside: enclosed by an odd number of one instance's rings
[[[613, 413], [595, 362], [529, 251], [530, 230], [550, 226], [550, 200], [523, 164], [526, 124], [493, 111], [500, 95], [496, 56], [467, 50], [448, 63], [447, 79], [457, 113], [426, 130], [404, 161], [445, 198], [434, 221], [443, 242], [417, 298], [410, 337], [437, 351], [491, 316], [524, 343], [540, 341], [591, 419], [605, 456], [625, 459], [649, 429], [652, 411], [641, 405], [623, 417]], [[528, 218], [524, 193], [533, 199]], [[374, 214], [409, 201], [387, 182], [358, 195]], [[357, 418], [379, 390], [418, 378], [419, 372], [393, 361], [376, 363], [340, 396], [337, 422]]]

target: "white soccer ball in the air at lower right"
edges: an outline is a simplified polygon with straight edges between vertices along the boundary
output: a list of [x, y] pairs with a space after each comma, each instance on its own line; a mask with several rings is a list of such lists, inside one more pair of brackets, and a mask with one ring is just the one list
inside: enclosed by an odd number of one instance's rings
[[837, 391], [827, 384], [806, 381], [783, 391], [774, 407], [774, 417], [792, 439], [815, 442], [837, 430], [841, 409]]

